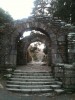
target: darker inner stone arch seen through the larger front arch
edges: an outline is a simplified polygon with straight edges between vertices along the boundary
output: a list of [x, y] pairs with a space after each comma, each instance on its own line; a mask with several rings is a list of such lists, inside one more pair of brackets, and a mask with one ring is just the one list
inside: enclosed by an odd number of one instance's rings
[[[17, 61], [19, 62], [19, 64], [27, 64], [27, 49], [29, 47], [29, 45], [33, 42], [36, 42], [36, 41], [40, 41], [42, 43], [44, 43], [47, 47], [47, 50], [48, 50], [48, 65], [51, 65], [52, 63], [52, 55], [51, 55], [51, 43], [50, 43], [50, 40], [49, 38], [46, 36], [46, 35], [43, 35], [43, 34], [38, 34], [38, 33], [34, 33], [34, 34], [31, 34], [30, 36], [27, 36], [25, 38], [23, 38], [21, 40], [21, 42], [19, 43], [20, 44], [20, 51], [18, 52], [18, 59]], [[19, 59], [21, 58], [21, 59]]]

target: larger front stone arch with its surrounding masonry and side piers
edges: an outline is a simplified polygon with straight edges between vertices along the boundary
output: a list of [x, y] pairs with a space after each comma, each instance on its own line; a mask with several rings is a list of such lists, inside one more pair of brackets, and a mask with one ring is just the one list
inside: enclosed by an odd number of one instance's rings
[[[65, 33], [62, 26], [65, 26], [65, 23], [61, 23], [59, 20], [39, 20], [34, 17], [28, 19], [17, 20], [14, 22], [15, 32], [12, 34], [11, 41], [11, 51], [10, 51], [10, 61], [9, 64], [16, 65], [17, 59], [17, 43], [20, 41], [20, 37], [27, 30], [36, 30], [42, 32], [50, 41], [50, 51], [52, 54], [52, 63], [57, 62], [66, 62], [65, 49], [61, 53], [58, 41], [65, 41]], [[59, 53], [58, 53], [59, 49]], [[49, 54], [51, 57], [51, 55]], [[58, 59], [57, 59], [58, 58]]]

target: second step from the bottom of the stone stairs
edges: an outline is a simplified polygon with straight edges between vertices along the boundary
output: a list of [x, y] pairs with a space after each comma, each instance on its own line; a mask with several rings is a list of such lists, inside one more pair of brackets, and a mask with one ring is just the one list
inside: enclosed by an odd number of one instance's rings
[[7, 87], [17, 89], [49, 89], [51, 85], [7, 85]]

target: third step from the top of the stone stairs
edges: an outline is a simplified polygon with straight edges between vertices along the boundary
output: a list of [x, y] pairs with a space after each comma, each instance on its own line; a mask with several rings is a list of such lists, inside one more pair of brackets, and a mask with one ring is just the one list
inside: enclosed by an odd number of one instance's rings
[[19, 75], [12, 75], [12, 78], [21, 78], [21, 79], [50, 79], [53, 76], [19, 76]]

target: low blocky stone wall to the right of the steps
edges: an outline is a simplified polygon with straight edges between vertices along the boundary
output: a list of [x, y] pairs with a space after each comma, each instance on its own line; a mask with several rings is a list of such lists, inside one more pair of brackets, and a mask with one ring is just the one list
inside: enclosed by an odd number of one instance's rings
[[66, 91], [75, 91], [75, 66], [70, 64], [56, 64], [54, 77], [63, 83]]

